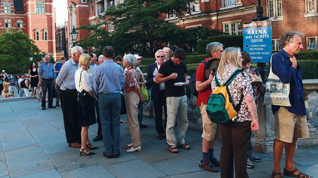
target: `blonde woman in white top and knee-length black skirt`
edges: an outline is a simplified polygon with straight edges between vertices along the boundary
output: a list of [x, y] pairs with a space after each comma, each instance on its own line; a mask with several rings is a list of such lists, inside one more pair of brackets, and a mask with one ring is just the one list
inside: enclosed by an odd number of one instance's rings
[[91, 82], [87, 73], [88, 67], [91, 64], [92, 57], [88, 54], [81, 54], [79, 57], [80, 68], [75, 72], [75, 84], [78, 91], [78, 126], [82, 127], [81, 131], [81, 148], [79, 155], [95, 155], [90, 150], [98, 149], [93, 146], [89, 140], [88, 130], [89, 127], [96, 123], [94, 102], [97, 98], [92, 90]]

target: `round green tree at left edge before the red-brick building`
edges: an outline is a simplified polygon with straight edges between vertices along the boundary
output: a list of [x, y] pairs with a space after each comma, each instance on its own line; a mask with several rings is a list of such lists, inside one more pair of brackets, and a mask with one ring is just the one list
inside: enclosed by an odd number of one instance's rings
[[[8, 73], [22, 73], [30, 67], [30, 54], [38, 54], [39, 48], [35, 42], [28, 39], [22, 31], [8, 29], [0, 34], [0, 64]], [[34, 61], [41, 58], [34, 56]]]

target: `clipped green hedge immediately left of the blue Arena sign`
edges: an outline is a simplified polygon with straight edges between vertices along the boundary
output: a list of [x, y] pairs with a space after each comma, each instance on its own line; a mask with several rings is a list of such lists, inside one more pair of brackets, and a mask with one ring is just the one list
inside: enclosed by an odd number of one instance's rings
[[211, 42], [222, 43], [223, 49], [227, 47], [232, 47], [232, 46], [237, 46], [243, 49], [243, 35], [227, 35], [227, 36], [209, 37], [207, 39], [207, 44]]

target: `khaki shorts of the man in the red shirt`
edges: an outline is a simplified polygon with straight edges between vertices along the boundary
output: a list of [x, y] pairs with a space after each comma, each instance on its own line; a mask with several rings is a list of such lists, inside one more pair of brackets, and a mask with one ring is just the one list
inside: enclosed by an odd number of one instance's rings
[[212, 123], [208, 113], [207, 113], [207, 105], [200, 103], [200, 110], [201, 110], [201, 115], [202, 115], [202, 127], [203, 127], [203, 133], [202, 133], [202, 138], [207, 140], [207, 141], [212, 141], [214, 140], [215, 133], [216, 133], [216, 123]]

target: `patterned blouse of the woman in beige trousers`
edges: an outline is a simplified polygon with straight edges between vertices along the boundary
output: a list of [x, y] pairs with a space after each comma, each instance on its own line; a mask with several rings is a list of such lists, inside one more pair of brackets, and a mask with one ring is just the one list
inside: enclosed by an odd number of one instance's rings
[[139, 86], [138, 71], [134, 67], [131, 67], [124, 76], [124, 91], [134, 91], [135, 85]]

